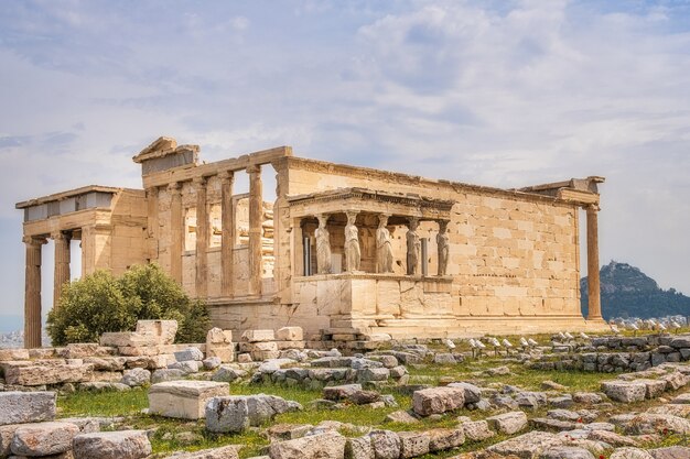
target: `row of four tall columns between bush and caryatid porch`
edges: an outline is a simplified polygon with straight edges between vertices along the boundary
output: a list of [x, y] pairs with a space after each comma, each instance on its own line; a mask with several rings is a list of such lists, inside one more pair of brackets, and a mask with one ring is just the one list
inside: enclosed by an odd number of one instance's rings
[[[261, 183], [261, 166], [250, 165], [249, 174], [249, 295], [260, 296], [262, 284], [262, 254], [261, 238], [263, 226], [263, 197]], [[220, 289], [225, 297], [234, 296], [234, 263], [233, 249], [235, 245], [235, 209], [233, 208], [234, 171], [217, 173], [220, 179]], [[208, 296], [208, 247], [211, 242], [212, 225], [209, 221], [207, 185], [209, 176], [195, 177], [192, 183], [196, 190], [196, 265], [195, 286], [196, 296]], [[182, 183], [173, 182], [168, 185], [171, 196], [170, 208], [170, 272], [172, 277], [182, 283], [182, 255], [184, 248], [184, 216], [182, 206]], [[150, 193], [154, 195], [155, 193]]]

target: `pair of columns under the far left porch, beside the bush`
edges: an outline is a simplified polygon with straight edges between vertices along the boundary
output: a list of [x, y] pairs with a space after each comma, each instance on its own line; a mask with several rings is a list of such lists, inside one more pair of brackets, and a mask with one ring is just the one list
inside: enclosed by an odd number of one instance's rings
[[[60, 305], [63, 286], [69, 282], [69, 231], [56, 231], [51, 234], [55, 243], [55, 272], [53, 276], [53, 307]], [[44, 236], [23, 238], [26, 248], [24, 273], [24, 347], [41, 347], [41, 260]]]

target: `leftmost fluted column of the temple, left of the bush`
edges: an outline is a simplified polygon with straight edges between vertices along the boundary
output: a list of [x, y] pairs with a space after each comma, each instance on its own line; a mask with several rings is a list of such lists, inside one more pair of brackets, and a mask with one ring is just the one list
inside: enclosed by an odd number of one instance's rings
[[24, 277], [24, 348], [41, 347], [41, 245], [45, 239], [24, 238], [26, 270]]

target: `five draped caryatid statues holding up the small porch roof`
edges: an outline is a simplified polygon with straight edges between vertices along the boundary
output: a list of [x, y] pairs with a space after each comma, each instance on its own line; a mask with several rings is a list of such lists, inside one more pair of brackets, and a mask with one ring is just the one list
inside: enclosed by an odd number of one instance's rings
[[[347, 217], [347, 225], [345, 225], [345, 243], [343, 247], [343, 253], [345, 258], [345, 271], [353, 273], [359, 271], [362, 261], [362, 252], [359, 248], [359, 230], [355, 225], [358, 212], [345, 211]], [[392, 273], [392, 239], [390, 231], [387, 228], [388, 218], [387, 214], [378, 215], [378, 228], [376, 230], [376, 272], [377, 273]], [[319, 274], [331, 274], [333, 272], [331, 265], [331, 237], [326, 227], [328, 216], [320, 214], [316, 216], [319, 220], [319, 227], [314, 231], [316, 239], [316, 272]], [[438, 271], [436, 275], [444, 276], [448, 272], [449, 260], [449, 236], [448, 236], [448, 220], [439, 221], [439, 233], [436, 234], [438, 247]], [[419, 219], [410, 217], [408, 219], [408, 232], [406, 234], [407, 241], [407, 274], [420, 275], [422, 270], [422, 259], [425, 256], [423, 250], [425, 245], [422, 245], [417, 230], [419, 227]], [[421, 272], [425, 275], [425, 272]]]

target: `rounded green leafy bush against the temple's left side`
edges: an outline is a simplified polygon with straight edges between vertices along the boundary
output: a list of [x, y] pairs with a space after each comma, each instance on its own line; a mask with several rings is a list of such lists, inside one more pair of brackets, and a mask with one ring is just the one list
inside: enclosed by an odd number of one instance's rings
[[54, 346], [95, 342], [106, 331], [130, 331], [137, 320], [177, 320], [177, 342], [203, 342], [211, 320], [158, 264], [134, 265], [121, 277], [97, 271], [65, 286], [47, 316]]

